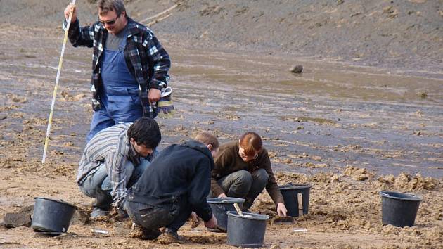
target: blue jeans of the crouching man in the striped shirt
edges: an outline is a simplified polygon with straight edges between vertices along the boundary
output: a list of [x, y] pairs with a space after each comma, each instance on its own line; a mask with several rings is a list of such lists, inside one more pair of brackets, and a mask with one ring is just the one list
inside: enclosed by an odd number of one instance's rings
[[[124, 174], [126, 176], [124, 182], [126, 183], [127, 189], [136, 183], [149, 165], [150, 162], [144, 158], [141, 158], [140, 164], [136, 165], [136, 167], [134, 167], [131, 161], [128, 160], [126, 162], [126, 165], [124, 165]], [[79, 189], [86, 196], [95, 198], [96, 203], [94, 206], [98, 208], [108, 210], [113, 202], [110, 195], [110, 192], [113, 190], [113, 184], [110, 181], [103, 162], [84, 177], [79, 184]]]

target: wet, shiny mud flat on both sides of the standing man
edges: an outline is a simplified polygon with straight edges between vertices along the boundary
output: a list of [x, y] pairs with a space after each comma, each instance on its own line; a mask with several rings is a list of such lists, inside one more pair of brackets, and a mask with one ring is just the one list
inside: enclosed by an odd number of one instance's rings
[[[6, 38], [14, 35], [5, 32]], [[8, 39], [0, 41], [0, 115], [7, 116], [0, 122], [4, 141], [31, 132], [41, 144], [27, 155], [39, 158], [61, 41], [49, 35], [32, 46], [33, 39], [8, 46]], [[378, 174], [443, 177], [442, 79], [309, 58], [165, 46], [177, 111], [172, 119], [158, 119], [162, 148], [202, 129], [217, 133], [221, 142], [255, 131], [275, 170], [314, 173], [352, 165]], [[90, 49], [68, 44], [50, 148], [70, 162], [79, 160], [89, 129], [90, 58]], [[288, 70], [297, 64], [304, 66], [300, 75]], [[86, 96], [72, 99], [78, 94]]]

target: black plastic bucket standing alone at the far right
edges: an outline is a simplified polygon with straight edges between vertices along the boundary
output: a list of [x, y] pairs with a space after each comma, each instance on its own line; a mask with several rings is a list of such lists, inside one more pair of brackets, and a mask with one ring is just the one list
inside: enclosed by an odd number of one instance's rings
[[382, 223], [393, 226], [413, 226], [422, 198], [411, 193], [381, 191]]

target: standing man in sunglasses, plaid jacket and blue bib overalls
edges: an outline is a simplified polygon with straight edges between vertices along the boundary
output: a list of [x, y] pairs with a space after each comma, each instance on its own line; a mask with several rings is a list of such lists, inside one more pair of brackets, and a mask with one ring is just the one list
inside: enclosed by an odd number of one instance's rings
[[[94, 47], [91, 92], [94, 115], [86, 142], [101, 129], [157, 115], [160, 91], [169, 82], [169, 55], [153, 32], [129, 18], [122, 0], [98, 0], [98, 20], [79, 26], [77, 8], [65, 8], [72, 20], [73, 46]], [[67, 21], [63, 25], [66, 30]]]

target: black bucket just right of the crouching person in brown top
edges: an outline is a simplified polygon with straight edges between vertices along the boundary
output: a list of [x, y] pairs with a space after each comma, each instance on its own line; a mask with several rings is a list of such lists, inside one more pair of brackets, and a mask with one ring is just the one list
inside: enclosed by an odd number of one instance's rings
[[288, 184], [278, 186], [285, 200], [285, 206], [288, 210], [288, 216], [298, 217], [298, 194], [302, 194], [303, 215], [309, 210], [309, 191], [311, 184]]

